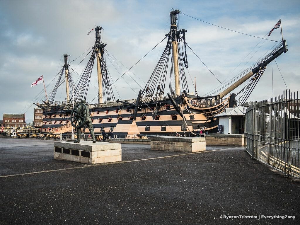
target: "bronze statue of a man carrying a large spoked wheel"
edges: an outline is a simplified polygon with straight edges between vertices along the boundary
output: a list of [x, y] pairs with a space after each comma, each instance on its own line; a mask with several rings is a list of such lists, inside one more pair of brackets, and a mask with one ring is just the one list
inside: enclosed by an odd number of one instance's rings
[[85, 103], [85, 100], [81, 100], [79, 104], [77, 104], [71, 112], [70, 117], [71, 124], [74, 128], [76, 128], [77, 140], [74, 140], [75, 143], [80, 142], [80, 129], [86, 125], [90, 131], [93, 143], [96, 143], [95, 133], [93, 130], [92, 120], [88, 111], [88, 106]]

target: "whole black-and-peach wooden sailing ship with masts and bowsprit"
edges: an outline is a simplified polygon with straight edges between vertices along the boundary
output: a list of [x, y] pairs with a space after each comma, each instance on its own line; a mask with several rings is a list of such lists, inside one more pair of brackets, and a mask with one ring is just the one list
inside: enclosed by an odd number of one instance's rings
[[[170, 12], [171, 26], [170, 33], [166, 35], [168, 44], [163, 53], [163, 56], [165, 56], [161, 57], [145, 88], [140, 90], [136, 99], [132, 100], [119, 101], [114, 98], [107, 98], [109, 101], [105, 102], [104, 93], [106, 90], [109, 90], [111, 85], [108, 80], [103, 80], [107, 76], [103, 74], [106, 71], [106, 65], [103, 57], [105, 54], [105, 45], [100, 41], [100, 30], [102, 28], [97, 27], [95, 29], [96, 41], [90, 65], [93, 65], [94, 58], [97, 58], [99, 103], [90, 104], [89, 111], [96, 136], [100, 135], [103, 130], [106, 132], [111, 130], [115, 137], [122, 138], [158, 134], [195, 135], [195, 130], [202, 127], [206, 127], [206, 132], [216, 133], [218, 119], [215, 116], [224, 112], [225, 108], [236, 105], [235, 94], [232, 91], [250, 78], [255, 86], [255, 82], [262, 76], [266, 65], [287, 51], [286, 41], [283, 40], [280, 47], [271, 52], [256, 67], [252, 68], [246, 75], [241, 76], [240, 79], [218, 95], [199, 97], [197, 92], [196, 95], [191, 95], [188, 93], [186, 80], [184, 83], [183, 62], [180, 60], [183, 50], [179, 49], [179, 41], [184, 41], [185, 44], [184, 35], [187, 31], [184, 29], [177, 30], [177, 14], [179, 14], [179, 10]], [[168, 57], [172, 59], [169, 60]], [[167, 68], [168, 64], [169, 66], [171, 64], [172, 69]], [[187, 67], [185, 60], [184, 65]], [[75, 90], [70, 88], [69, 82], [71, 80], [68, 66], [67, 55], [65, 55], [65, 65], [61, 70], [61, 75], [65, 74], [67, 96], [71, 96], [70, 93], [74, 94], [71, 98], [67, 98], [64, 104], [55, 103], [53, 101], [54, 97], [50, 101], [44, 101], [44, 104], [36, 104], [43, 109], [41, 133], [61, 134], [70, 133], [72, 130], [76, 131], [71, 126], [70, 113], [73, 105], [79, 102], [78, 99], [85, 99], [86, 95], [78, 92], [79, 89], [84, 89], [80, 81]], [[174, 72], [174, 82], [170, 82], [169, 93], [165, 96], [164, 88], [166, 85], [165, 83], [160, 83], [158, 80], [164, 80], [165, 82], [167, 71]], [[161, 74], [163, 79], [158, 79], [157, 74]], [[89, 79], [85, 73], [82, 75], [82, 80], [84, 79]], [[184, 87], [181, 87], [180, 83]], [[74, 84], [71, 86], [74, 86]], [[103, 90], [103, 87], [106, 87], [106, 89]], [[113, 94], [107, 93], [107, 96], [113, 96]], [[77, 101], [72, 102], [72, 98], [77, 99]], [[81, 131], [86, 134], [89, 133], [85, 127]]]

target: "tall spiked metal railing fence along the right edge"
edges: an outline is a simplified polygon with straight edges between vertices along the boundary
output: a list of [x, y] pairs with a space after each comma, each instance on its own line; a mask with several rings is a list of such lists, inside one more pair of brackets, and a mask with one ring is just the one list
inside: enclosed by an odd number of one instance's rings
[[300, 178], [298, 92], [255, 103], [246, 110], [245, 150], [288, 177]]

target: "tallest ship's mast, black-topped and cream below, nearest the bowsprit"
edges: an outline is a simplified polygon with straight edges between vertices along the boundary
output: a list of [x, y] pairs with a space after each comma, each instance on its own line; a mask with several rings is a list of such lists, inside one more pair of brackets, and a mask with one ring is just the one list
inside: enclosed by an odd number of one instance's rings
[[177, 23], [176, 15], [179, 14], [179, 10], [174, 10], [170, 12], [171, 27], [170, 35], [172, 38], [172, 49], [173, 49], [173, 63], [174, 63], [174, 83], [175, 83], [175, 94], [180, 95], [179, 86], [179, 66], [178, 66], [178, 40], [177, 40]]

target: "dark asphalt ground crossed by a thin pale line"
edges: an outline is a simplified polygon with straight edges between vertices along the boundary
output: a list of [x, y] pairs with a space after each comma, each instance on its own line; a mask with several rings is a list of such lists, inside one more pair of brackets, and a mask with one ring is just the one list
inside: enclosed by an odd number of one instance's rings
[[300, 182], [243, 147], [122, 144], [122, 162], [86, 165], [54, 160], [51, 140], [0, 138], [0, 188], [0, 224], [300, 223]]

